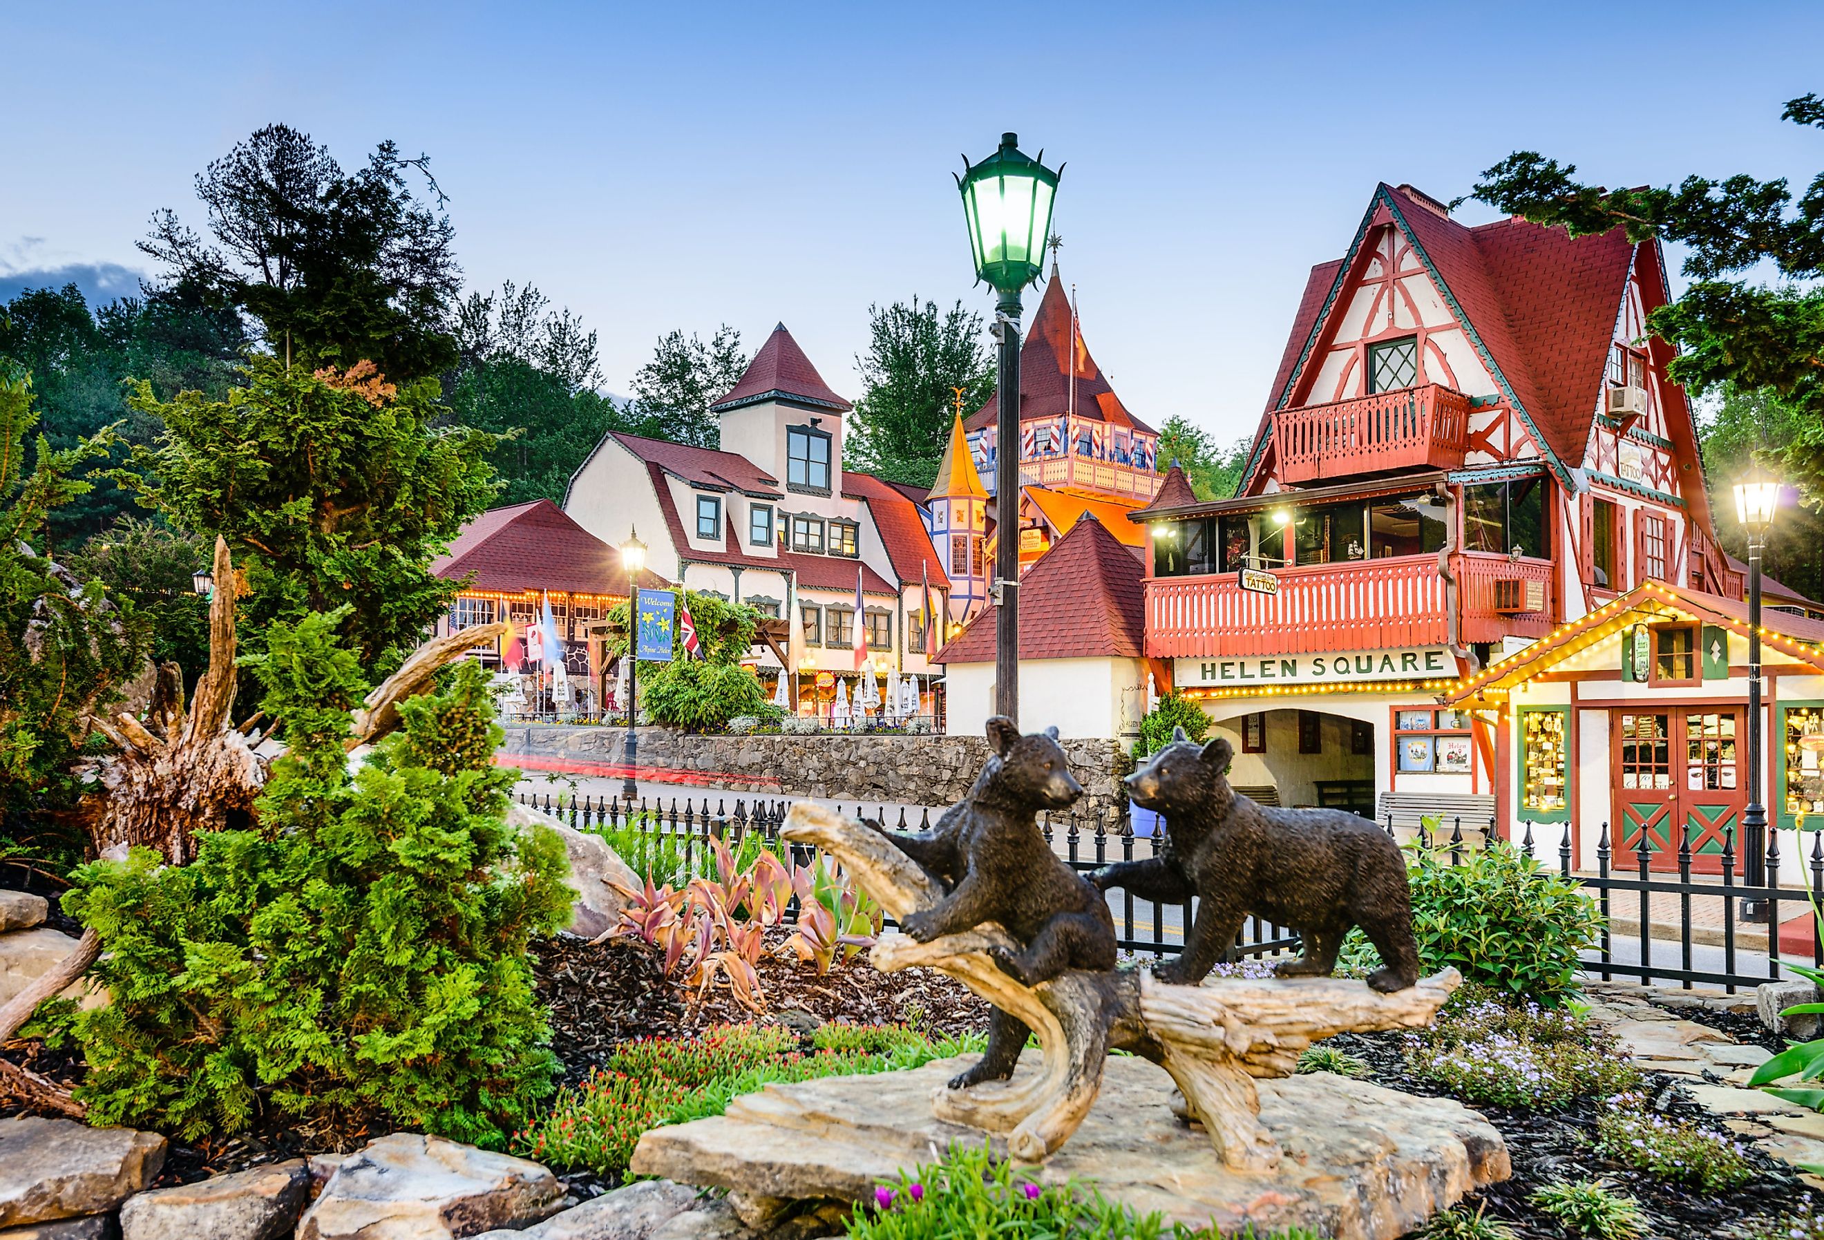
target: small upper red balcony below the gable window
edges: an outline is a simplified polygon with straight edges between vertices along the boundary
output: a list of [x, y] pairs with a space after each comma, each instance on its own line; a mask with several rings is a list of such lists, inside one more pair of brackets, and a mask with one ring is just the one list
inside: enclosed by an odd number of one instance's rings
[[1435, 383], [1273, 414], [1279, 478], [1288, 485], [1457, 469], [1468, 432], [1470, 398]]

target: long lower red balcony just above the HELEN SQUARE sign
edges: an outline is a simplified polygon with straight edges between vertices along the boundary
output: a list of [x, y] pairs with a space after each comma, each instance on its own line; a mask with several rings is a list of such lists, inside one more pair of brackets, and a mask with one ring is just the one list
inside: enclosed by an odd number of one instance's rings
[[[1552, 563], [1459, 553], [1463, 642], [1538, 638], [1552, 622]], [[1437, 556], [1279, 569], [1279, 594], [1235, 573], [1158, 576], [1145, 584], [1151, 658], [1443, 646], [1450, 636]]]

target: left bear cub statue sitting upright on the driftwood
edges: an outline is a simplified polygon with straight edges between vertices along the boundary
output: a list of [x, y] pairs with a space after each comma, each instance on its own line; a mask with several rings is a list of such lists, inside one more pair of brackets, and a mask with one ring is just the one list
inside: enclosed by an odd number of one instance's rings
[[[996, 948], [994, 963], [1036, 987], [1067, 968], [1114, 968], [1114, 919], [1107, 901], [1065, 864], [1038, 826], [1040, 810], [1067, 810], [1083, 795], [1071, 777], [1058, 729], [1021, 737], [1012, 720], [989, 720], [989, 755], [969, 795], [928, 832], [886, 835], [945, 888], [901, 930], [919, 943], [998, 923], [1020, 945]], [[981, 1063], [950, 1081], [963, 1089], [1012, 1076], [1027, 1041], [1023, 1021], [994, 1010]]]

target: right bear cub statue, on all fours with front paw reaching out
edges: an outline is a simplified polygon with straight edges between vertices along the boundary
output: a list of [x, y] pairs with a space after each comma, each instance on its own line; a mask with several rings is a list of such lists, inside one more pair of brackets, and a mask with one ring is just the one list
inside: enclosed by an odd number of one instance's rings
[[1135, 804], [1166, 817], [1160, 855], [1089, 875], [1102, 890], [1118, 886], [1142, 899], [1198, 897], [1184, 954], [1155, 976], [1197, 985], [1253, 914], [1304, 939], [1304, 956], [1275, 970], [1282, 977], [1328, 977], [1342, 935], [1361, 926], [1384, 965], [1368, 985], [1381, 992], [1414, 985], [1419, 946], [1399, 846], [1342, 810], [1275, 810], [1238, 795], [1226, 777], [1231, 757], [1228, 740], [1198, 746], [1176, 729], [1173, 744], [1127, 777]]

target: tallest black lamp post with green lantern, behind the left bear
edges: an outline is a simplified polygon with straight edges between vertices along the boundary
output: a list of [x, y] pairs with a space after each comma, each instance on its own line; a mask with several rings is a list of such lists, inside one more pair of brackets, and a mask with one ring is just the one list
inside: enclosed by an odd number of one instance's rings
[[[1043, 159], [1045, 151], [1040, 151]], [[963, 157], [969, 164], [969, 157]], [[1058, 171], [1020, 153], [1020, 135], [1003, 133], [998, 151], [956, 179], [969, 219], [976, 279], [994, 286], [1000, 341], [994, 421], [994, 711], [1020, 718], [1020, 290], [1043, 270]]]

